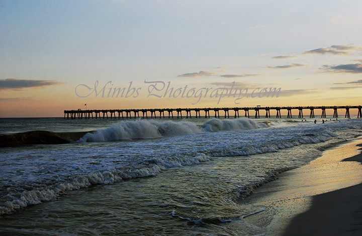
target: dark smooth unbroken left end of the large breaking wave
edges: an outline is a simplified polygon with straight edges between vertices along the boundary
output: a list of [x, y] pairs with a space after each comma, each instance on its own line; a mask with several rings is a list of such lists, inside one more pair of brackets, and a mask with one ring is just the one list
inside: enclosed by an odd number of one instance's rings
[[78, 140], [88, 132], [51, 132], [34, 130], [24, 133], [0, 135], [0, 147], [24, 146], [33, 144], [62, 144]]

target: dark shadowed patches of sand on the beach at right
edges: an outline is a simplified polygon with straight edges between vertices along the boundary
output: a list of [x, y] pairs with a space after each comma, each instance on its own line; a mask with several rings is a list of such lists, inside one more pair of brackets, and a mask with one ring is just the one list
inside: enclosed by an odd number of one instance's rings
[[[362, 144], [356, 146], [362, 147]], [[362, 164], [362, 152], [342, 162]], [[294, 217], [283, 235], [361, 234], [362, 183], [313, 196], [309, 210]]]

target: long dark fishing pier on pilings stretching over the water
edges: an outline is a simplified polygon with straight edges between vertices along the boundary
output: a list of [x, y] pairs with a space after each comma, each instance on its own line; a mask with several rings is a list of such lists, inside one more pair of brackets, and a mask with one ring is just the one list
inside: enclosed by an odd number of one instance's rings
[[[265, 118], [270, 118], [270, 110], [275, 110], [277, 112], [276, 118], [281, 118], [281, 110], [288, 111], [287, 118], [292, 117], [292, 110], [297, 110], [298, 118], [304, 118], [303, 110], [307, 110], [310, 112], [309, 118], [315, 118], [314, 110], [321, 110], [322, 115], [321, 118], [326, 118], [326, 110], [333, 109], [333, 118], [338, 118], [338, 109], [345, 110], [344, 118], [350, 118], [349, 110], [350, 109], [357, 109], [358, 114], [357, 118], [362, 117], [361, 112], [362, 106], [319, 106], [319, 107], [233, 107], [233, 108], [157, 108], [157, 109], [115, 109], [115, 110], [65, 110], [64, 111], [64, 119], [92, 119], [95, 118], [114, 118], [116, 119], [132, 119], [134, 118], [156, 118], [156, 113], [159, 115], [158, 117], [165, 118], [165, 112], [168, 112], [168, 118], [174, 118], [173, 112], [177, 112], [177, 118], [183, 118], [182, 112], [186, 112], [186, 118], [201, 118], [200, 112], [202, 111], [205, 114], [205, 118], [210, 118], [210, 111], [214, 112], [215, 118], [220, 118], [220, 111], [224, 112], [224, 118], [230, 118], [229, 111], [234, 111], [234, 118], [239, 118], [239, 111], [245, 112], [245, 117], [250, 118], [249, 111], [254, 111], [255, 118], [260, 118], [260, 111], [265, 111]], [[191, 114], [193, 112], [193, 116]], [[101, 114], [102, 113], [102, 114]], [[117, 113], [117, 114], [116, 114]], [[140, 113], [142, 115], [140, 116]], [[109, 115], [108, 115], [109, 114]], [[149, 114], [149, 115], [148, 115]], [[166, 113], [167, 115], [167, 113]]]

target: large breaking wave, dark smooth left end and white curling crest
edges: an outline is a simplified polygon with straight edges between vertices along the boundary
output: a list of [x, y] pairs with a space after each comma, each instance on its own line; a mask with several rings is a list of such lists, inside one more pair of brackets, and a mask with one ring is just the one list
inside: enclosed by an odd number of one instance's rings
[[248, 119], [211, 119], [201, 127], [192, 122], [157, 122], [148, 120], [121, 121], [108, 128], [91, 132], [51, 132], [34, 130], [23, 133], [0, 135], [0, 147], [34, 144], [63, 144], [70, 142], [99, 142], [115, 140], [149, 139], [204, 132], [232, 131], [266, 128], [268, 123]]

